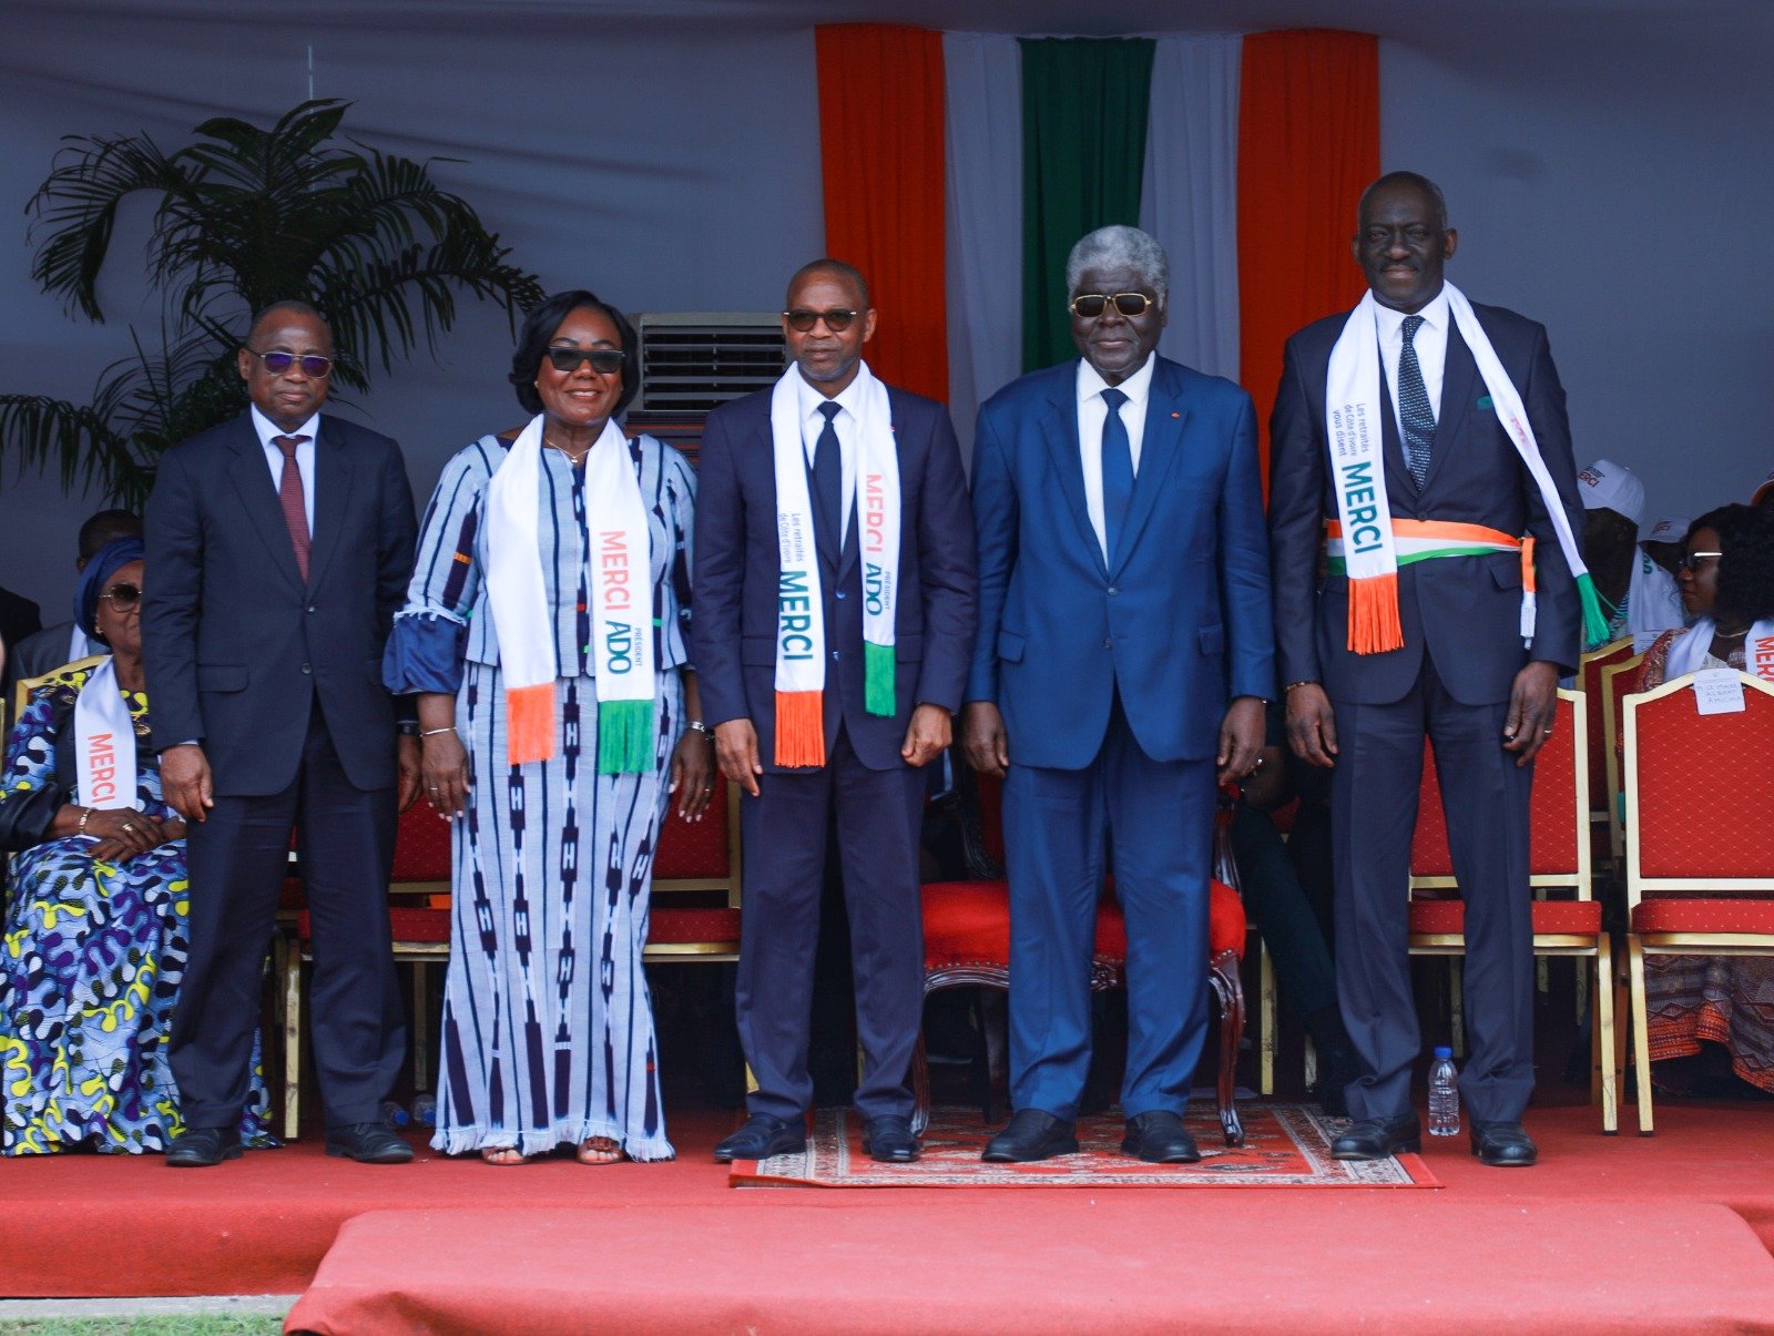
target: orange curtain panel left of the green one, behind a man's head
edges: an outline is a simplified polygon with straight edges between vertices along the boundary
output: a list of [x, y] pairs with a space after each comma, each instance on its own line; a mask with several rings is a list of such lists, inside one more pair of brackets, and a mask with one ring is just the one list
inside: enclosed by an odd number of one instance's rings
[[869, 279], [875, 373], [947, 401], [942, 34], [839, 23], [814, 37], [825, 248]]

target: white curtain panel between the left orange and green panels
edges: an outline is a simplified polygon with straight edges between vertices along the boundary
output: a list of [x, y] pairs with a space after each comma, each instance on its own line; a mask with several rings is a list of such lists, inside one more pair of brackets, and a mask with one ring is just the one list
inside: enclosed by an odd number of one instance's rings
[[949, 413], [970, 465], [979, 405], [1022, 373], [1022, 51], [1015, 37], [946, 32], [942, 66]]

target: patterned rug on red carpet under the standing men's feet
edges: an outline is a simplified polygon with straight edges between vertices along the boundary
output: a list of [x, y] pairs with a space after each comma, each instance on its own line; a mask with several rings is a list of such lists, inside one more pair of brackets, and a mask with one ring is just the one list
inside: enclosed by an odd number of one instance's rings
[[1079, 1153], [1036, 1164], [979, 1159], [995, 1130], [976, 1109], [937, 1109], [917, 1164], [876, 1164], [862, 1151], [860, 1127], [844, 1109], [821, 1109], [804, 1155], [734, 1160], [734, 1187], [1440, 1187], [1416, 1155], [1346, 1162], [1330, 1159], [1330, 1139], [1348, 1123], [1316, 1107], [1240, 1104], [1245, 1139], [1228, 1146], [1210, 1105], [1189, 1114], [1199, 1164], [1144, 1164], [1121, 1153], [1118, 1112], [1079, 1123]]

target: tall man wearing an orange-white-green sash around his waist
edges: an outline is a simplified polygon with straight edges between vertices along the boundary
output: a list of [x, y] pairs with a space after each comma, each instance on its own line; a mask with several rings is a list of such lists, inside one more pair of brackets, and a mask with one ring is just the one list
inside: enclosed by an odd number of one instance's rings
[[[1572, 527], [1581, 532], [1581, 511], [1545, 328], [1501, 307], [1471, 307], [1444, 284], [1456, 240], [1433, 183], [1414, 172], [1380, 177], [1361, 199], [1354, 238], [1373, 302], [1288, 341], [1272, 424], [1276, 639], [1290, 743], [1306, 761], [1334, 766], [1338, 994], [1361, 1066], [1348, 1088], [1357, 1121], [1334, 1153], [1378, 1159], [1417, 1146], [1405, 884], [1428, 735], [1465, 900], [1471, 1056], [1460, 1089], [1472, 1150], [1485, 1164], [1526, 1166], [1536, 1157], [1520, 1123], [1533, 1089], [1527, 795], [1531, 761], [1552, 731], [1558, 680], [1577, 665], [1582, 617], [1566, 539]], [[1373, 516], [1371, 486], [1354, 513], [1368, 509], [1357, 532], [1375, 523], [1375, 538], [1382, 527], [1394, 536], [1393, 648], [1370, 642], [1350, 617], [1352, 603], [1368, 598], [1352, 593], [1361, 580], [1350, 578], [1361, 538], [1345, 548], [1343, 529], [1329, 529], [1339, 522], [1346, 470], [1343, 454], [1332, 467], [1327, 444], [1327, 383], [1339, 357], [1373, 353], [1341, 342], [1357, 318], [1366, 321], [1361, 342], [1378, 341], [1373, 412], [1362, 417], [1380, 422], [1373, 467], [1384, 474], [1389, 523]], [[1485, 344], [1506, 381], [1481, 371]], [[1526, 406], [1543, 483], [1499, 420], [1511, 394]], [[1332, 397], [1341, 424], [1346, 399]], [[1444, 525], [1458, 529], [1449, 536]], [[1327, 532], [1329, 575], [1320, 577]], [[1531, 614], [1522, 534], [1536, 539]]]

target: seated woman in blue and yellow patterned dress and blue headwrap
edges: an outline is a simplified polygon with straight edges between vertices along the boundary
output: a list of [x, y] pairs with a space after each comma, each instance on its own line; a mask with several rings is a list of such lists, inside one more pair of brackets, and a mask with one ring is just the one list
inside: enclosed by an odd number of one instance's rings
[[[160, 1151], [181, 1130], [167, 1034], [184, 972], [184, 821], [144, 743], [142, 539], [101, 548], [75, 616], [110, 648], [27, 703], [0, 774], [16, 850], [0, 939], [0, 1153]], [[241, 1139], [275, 1146], [254, 1056]]]

